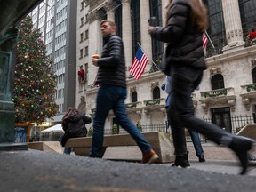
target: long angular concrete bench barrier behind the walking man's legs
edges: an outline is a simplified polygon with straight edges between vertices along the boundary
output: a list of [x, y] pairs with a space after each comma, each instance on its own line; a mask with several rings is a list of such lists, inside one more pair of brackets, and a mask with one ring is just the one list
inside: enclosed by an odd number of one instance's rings
[[[157, 163], [174, 161], [173, 147], [170, 135], [164, 132], [143, 132], [146, 140], [159, 156]], [[92, 137], [68, 139], [65, 147], [73, 148], [76, 155], [89, 156], [92, 147]], [[130, 134], [105, 135], [102, 158], [125, 161], [141, 161], [140, 148]]]

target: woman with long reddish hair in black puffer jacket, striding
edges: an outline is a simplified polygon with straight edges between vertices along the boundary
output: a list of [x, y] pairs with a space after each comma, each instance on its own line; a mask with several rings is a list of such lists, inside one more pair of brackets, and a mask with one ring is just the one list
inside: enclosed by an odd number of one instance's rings
[[194, 116], [190, 95], [200, 84], [206, 69], [202, 36], [208, 27], [207, 10], [201, 0], [170, 0], [166, 11], [165, 27], [148, 26], [148, 33], [168, 44], [165, 60], [170, 67], [168, 74], [172, 76], [172, 100], [167, 110], [176, 156], [172, 165], [189, 166], [184, 129], [188, 127], [232, 149], [241, 163], [240, 173], [244, 174], [248, 166], [248, 151], [254, 141], [233, 135]]

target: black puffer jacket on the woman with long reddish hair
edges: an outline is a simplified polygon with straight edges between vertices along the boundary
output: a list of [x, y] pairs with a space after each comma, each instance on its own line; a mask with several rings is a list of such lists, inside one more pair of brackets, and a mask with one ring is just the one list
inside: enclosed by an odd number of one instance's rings
[[168, 43], [166, 56], [170, 65], [188, 65], [206, 69], [203, 33], [191, 21], [189, 0], [173, 0], [167, 13], [168, 26], [156, 27], [150, 35]]

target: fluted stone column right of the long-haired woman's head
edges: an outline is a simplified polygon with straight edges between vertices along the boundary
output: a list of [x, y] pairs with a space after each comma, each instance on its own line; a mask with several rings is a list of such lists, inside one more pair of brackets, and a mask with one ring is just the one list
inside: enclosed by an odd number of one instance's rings
[[222, 0], [221, 2], [228, 43], [227, 46], [223, 47], [223, 52], [242, 49], [244, 39], [238, 0]]

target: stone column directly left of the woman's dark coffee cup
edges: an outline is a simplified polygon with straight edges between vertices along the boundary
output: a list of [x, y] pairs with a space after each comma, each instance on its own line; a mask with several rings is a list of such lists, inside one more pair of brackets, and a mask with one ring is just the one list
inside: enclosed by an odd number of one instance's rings
[[148, 65], [145, 68], [145, 72], [148, 72], [153, 65], [152, 60], [152, 40], [148, 35], [148, 19], [150, 17], [149, 1], [140, 1], [140, 37], [141, 47], [148, 56]]

